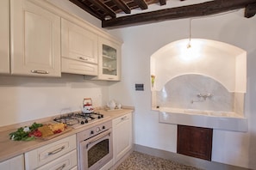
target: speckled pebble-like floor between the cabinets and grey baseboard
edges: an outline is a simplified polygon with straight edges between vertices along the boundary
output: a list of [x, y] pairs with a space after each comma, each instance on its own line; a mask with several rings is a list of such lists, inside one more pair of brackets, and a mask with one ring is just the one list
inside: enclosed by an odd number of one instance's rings
[[152, 155], [142, 154], [134, 151], [123, 161], [116, 170], [201, 170], [197, 167], [190, 167], [179, 164], [175, 161], [165, 160]]

